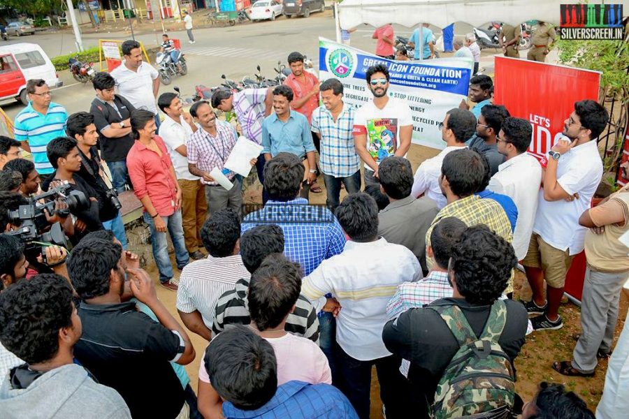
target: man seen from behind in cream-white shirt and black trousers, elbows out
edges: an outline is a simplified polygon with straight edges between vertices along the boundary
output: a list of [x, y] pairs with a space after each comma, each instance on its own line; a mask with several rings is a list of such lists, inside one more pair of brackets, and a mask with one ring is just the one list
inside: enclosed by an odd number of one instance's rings
[[359, 418], [369, 417], [373, 365], [387, 416], [405, 417], [410, 395], [403, 394], [401, 359], [384, 347], [382, 328], [386, 303], [398, 285], [421, 279], [421, 267], [412, 251], [378, 237], [378, 208], [366, 193], [348, 195], [336, 216], [349, 241], [342, 253], [324, 260], [303, 279], [301, 291], [315, 304], [327, 293], [340, 303], [335, 309], [338, 388]]

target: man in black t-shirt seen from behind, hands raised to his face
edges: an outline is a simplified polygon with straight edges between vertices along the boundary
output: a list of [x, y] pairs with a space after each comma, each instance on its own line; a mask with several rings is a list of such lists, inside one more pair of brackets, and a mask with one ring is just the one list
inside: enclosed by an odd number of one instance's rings
[[[125, 270], [133, 296], [159, 323], [138, 311], [135, 302], [121, 302]], [[120, 244], [90, 237], [73, 249], [68, 274], [82, 300], [83, 335], [74, 348], [81, 365], [120, 393], [134, 419], [187, 413], [184, 389], [170, 362], [189, 364], [194, 347], [157, 298], [149, 275], [126, 267]]]

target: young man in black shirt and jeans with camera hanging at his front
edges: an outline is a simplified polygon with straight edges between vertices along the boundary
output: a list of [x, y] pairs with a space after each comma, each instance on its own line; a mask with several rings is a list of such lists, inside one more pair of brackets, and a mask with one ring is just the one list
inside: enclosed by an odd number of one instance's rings
[[78, 175], [89, 186], [92, 186], [92, 189], [99, 195], [99, 215], [103, 227], [106, 230], [111, 230], [122, 244], [122, 249], [126, 249], [127, 242], [122, 213], [115, 205], [117, 202], [120, 206], [120, 200], [117, 198], [117, 191], [108, 186], [104, 179], [106, 173], [96, 149], [99, 133], [96, 131], [96, 125], [94, 125], [94, 116], [87, 112], [73, 113], [66, 122], [66, 132], [68, 137], [74, 138], [77, 142], [82, 163]]

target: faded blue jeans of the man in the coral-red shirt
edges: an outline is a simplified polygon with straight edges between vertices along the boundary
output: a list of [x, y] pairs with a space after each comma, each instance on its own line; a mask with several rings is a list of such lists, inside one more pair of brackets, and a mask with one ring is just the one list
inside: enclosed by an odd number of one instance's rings
[[[186, 250], [186, 242], [183, 237], [181, 211], [178, 210], [171, 216], [162, 216], [161, 219], [166, 223], [166, 229], [171, 235], [171, 240], [175, 247], [177, 267], [182, 268], [187, 265], [190, 256]], [[153, 258], [155, 259], [157, 270], [159, 270], [159, 281], [166, 282], [175, 276], [171, 258], [168, 257], [168, 239], [166, 239], [166, 232], [160, 233], [155, 230], [155, 221], [148, 212], [144, 213], [144, 221], [151, 230], [151, 246], [153, 248]]]

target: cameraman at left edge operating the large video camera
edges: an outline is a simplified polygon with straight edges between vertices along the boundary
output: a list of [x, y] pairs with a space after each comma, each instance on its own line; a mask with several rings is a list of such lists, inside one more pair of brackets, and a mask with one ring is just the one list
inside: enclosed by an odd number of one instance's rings
[[6, 234], [22, 226], [20, 220], [11, 220], [8, 216], [8, 212], [17, 210], [20, 205], [29, 205], [29, 201], [20, 193], [0, 192], [0, 230], [4, 233], [0, 234], [0, 289], [6, 288], [18, 279], [30, 278], [38, 273], [55, 272], [68, 278], [66, 249], [55, 245], [47, 246], [42, 257], [38, 247], [28, 246], [25, 251], [24, 243], [18, 237]]

